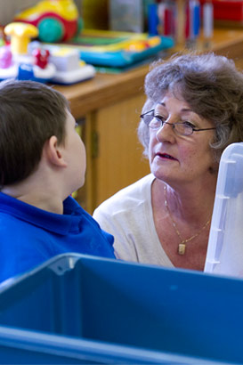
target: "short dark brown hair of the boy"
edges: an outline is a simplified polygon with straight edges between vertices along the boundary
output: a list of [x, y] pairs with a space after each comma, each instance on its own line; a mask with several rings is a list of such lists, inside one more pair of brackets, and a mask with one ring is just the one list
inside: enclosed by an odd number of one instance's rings
[[34, 81], [0, 83], [0, 184], [20, 183], [32, 174], [45, 142], [65, 140], [69, 102], [58, 91]]

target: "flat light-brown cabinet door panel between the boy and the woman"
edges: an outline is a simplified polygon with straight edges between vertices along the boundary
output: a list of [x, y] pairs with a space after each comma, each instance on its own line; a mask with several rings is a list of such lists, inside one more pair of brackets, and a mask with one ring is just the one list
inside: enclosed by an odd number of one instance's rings
[[93, 157], [93, 208], [115, 192], [150, 173], [137, 137], [143, 93], [97, 110], [94, 129], [97, 154]]

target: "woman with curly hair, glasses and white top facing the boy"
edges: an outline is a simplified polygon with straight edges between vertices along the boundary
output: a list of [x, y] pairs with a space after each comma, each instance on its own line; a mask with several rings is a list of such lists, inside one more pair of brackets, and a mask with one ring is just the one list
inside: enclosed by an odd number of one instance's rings
[[151, 174], [94, 211], [117, 258], [202, 271], [219, 160], [243, 141], [243, 74], [214, 53], [173, 56], [145, 78], [138, 128]]

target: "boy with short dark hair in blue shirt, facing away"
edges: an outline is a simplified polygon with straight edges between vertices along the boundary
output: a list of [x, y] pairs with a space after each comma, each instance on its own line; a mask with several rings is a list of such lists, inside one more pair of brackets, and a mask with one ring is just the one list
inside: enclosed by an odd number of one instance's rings
[[66, 252], [115, 258], [113, 236], [70, 197], [85, 183], [75, 127], [53, 88], [0, 83], [0, 281]]

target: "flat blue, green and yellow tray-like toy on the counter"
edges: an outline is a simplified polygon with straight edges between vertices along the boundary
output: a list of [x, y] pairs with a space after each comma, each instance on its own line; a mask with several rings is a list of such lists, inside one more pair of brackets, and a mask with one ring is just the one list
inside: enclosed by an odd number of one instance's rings
[[[83, 29], [65, 47], [77, 49], [80, 57], [95, 66], [125, 68], [174, 45], [171, 37], [150, 37], [147, 33]], [[52, 49], [52, 45], [48, 45]]]

